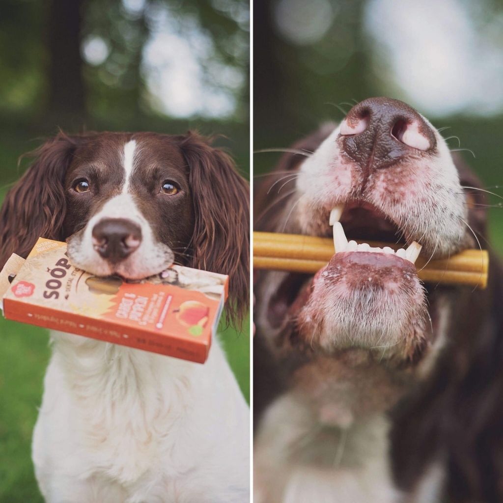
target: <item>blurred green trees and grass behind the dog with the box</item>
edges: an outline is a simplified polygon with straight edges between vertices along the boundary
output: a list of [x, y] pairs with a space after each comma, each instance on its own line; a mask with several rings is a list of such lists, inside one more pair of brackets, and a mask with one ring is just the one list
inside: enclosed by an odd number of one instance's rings
[[[0, 201], [27, 167], [18, 157], [58, 128], [222, 134], [248, 178], [248, 25], [247, 0], [3, 0]], [[248, 326], [222, 335], [246, 399]], [[0, 338], [0, 501], [37, 503], [48, 335], [0, 316]]]

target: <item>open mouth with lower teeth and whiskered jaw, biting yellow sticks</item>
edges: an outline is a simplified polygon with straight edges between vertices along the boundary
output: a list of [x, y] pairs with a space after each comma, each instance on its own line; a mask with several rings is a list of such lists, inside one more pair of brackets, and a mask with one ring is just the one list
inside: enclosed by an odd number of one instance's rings
[[407, 245], [403, 229], [367, 202], [334, 207], [329, 224], [331, 260], [313, 277], [288, 274], [271, 299], [269, 319], [283, 314], [282, 327], [311, 349], [386, 348], [412, 358], [428, 320], [414, 266], [421, 244]]

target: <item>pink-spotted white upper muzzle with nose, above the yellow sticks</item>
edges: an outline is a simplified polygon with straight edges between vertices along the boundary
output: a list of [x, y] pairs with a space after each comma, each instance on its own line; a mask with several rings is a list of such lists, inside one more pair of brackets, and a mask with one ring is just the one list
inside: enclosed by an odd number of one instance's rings
[[475, 244], [449, 147], [398, 100], [370, 98], [353, 107], [301, 163], [292, 199], [286, 231], [330, 235], [333, 208], [371, 206], [424, 255], [447, 257]]

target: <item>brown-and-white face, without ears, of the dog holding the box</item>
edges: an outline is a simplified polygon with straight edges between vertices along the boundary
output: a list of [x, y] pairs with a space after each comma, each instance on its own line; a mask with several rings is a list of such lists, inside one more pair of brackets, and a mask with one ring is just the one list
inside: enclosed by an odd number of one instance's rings
[[111, 136], [74, 156], [65, 229], [76, 266], [141, 279], [169, 267], [173, 249], [187, 247], [193, 215], [182, 155], [130, 136]]

